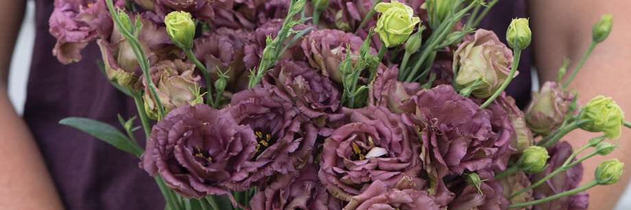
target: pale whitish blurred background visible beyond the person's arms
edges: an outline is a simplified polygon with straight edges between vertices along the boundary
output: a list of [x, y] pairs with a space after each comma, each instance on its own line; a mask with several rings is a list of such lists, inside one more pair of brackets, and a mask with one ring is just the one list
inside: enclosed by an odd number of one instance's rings
[[[25, 13], [22, 29], [16, 41], [11, 69], [9, 71], [9, 98], [18, 114], [22, 115], [26, 100], [26, 83], [28, 81], [31, 55], [33, 53], [33, 42], [35, 39], [35, 3], [27, 1], [27, 11]], [[52, 49], [51, 49], [52, 50]], [[36, 53], [52, 53], [43, 51]], [[533, 90], [538, 90], [539, 84], [536, 71], [533, 74]], [[631, 186], [631, 185], [630, 185]], [[627, 187], [626, 192], [621, 196], [615, 210], [631, 209], [631, 187]]]

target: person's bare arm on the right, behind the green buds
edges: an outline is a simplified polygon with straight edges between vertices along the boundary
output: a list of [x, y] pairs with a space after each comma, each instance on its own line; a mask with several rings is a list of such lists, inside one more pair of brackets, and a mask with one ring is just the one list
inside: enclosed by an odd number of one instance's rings
[[[530, 0], [529, 12], [533, 32], [536, 66], [540, 81], [554, 81], [563, 57], [572, 61], [571, 73], [591, 43], [591, 26], [602, 14], [613, 15], [613, 29], [608, 38], [597, 45], [569, 88], [578, 90], [584, 105], [602, 94], [611, 96], [620, 107], [631, 113], [631, 1], [628, 0]], [[630, 116], [629, 114], [627, 116]], [[575, 148], [586, 144], [597, 133], [574, 131], [564, 140]], [[583, 183], [591, 181], [598, 163], [617, 158], [631, 166], [631, 132], [623, 128], [621, 146], [606, 157], [596, 156], [584, 162]], [[613, 143], [613, 142], [612, 142]], [[629, 175], [619, 183], [597, 186], [589, 190], [589, 209], [612, 209], [627, 187]]]

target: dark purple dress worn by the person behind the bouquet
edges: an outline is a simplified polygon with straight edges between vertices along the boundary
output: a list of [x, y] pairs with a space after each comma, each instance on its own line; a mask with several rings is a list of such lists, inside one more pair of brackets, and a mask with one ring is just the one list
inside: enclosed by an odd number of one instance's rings
[[[515, 5], [512, 5], [512, 4]], [[480, 27], [503, 38], [514, 16], [525, 16], [524, 1], [499, 1]], [[139, 160], [71, 127], [58, 124], [69, 116], [92, 118], [120, 128], [116, 114], [136, 115], [133, 100], [112, 88], [95, 63], [96, 44], [82, 51], [81, 62], [64, 66], [51, 54], [55, 38], [48, 32], [53, 0], [36, 0], [36, 37], [24, 118], [67, 209], [164, 209], [154, 179], [138, 167]], [[490, 22], [494, 25], [488, 25]], [[484, 24], [483, 23], [483, 24]], [[523, 73], [511, 83], [518, 103], [529, 98], [529, 55]], [[139, 122], [136, 122], [139, 123]], [[140, 132], [140, 131], [139, 131]], [[141, 133], [139, 133], [141, 135]], [[139, 139], [143, 139], [142, 137]]]

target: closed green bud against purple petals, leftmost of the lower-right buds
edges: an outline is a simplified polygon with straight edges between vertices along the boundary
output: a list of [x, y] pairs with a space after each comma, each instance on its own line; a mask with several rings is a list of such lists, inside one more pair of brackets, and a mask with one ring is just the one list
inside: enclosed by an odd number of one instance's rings
[[530, 146], [523, 150], [523, 154], [517, 160], [517, 167], [519, 170], [535, 174], [545, 169], [545, 163], [550, 156], [548, 150], [542, 146]]

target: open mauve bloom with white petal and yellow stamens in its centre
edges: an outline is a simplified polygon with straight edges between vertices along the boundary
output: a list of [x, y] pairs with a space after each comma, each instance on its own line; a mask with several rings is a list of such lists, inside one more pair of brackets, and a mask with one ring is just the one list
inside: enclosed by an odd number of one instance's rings
[[414, 181], [422, 166], [416, 135], [401, 116], [385, 107], [346, 109], [348, 124], [326, 140], [320, 161], [320, 182], [336, 198], [350, 200], [374, 181], [394, 185], [403, 176]]

